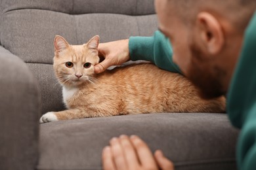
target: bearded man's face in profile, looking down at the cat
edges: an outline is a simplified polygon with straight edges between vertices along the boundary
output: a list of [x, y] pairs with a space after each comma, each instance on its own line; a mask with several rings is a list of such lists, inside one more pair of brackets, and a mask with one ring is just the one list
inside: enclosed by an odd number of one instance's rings
[[182, 73], [202, 91], [202, 97], [212, 98], [223, 95], [222, 81], [225, 71], [218, 62], [205, 54], [202, 44], [198, 43], [196, 27], [184, 24], [175, 14], [175, 8], [169, 7], [168, 0], [156, 0], [156, 12], [160, 30], [170, 39], [173, 46], [173, 61], [179, 65]]

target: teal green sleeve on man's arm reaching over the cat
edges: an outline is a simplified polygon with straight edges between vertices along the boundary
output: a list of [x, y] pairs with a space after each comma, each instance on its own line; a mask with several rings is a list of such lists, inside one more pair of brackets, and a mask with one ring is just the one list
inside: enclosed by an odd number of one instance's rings
[[152, 37], [130, 37], [129, 52], [133, 61], [151, 61], [161, 69], [181, 73], [179, 67], [173, 63], [171, 43], [160, 31], [156, 31]]

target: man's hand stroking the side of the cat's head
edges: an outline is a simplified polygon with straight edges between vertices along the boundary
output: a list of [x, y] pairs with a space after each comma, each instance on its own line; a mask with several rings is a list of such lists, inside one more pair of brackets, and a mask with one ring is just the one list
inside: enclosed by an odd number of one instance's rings
[[121, 65], [130, 59], [129, 39], [101, 43], [98, 45], [98, 53], [105, 59], [95, 65], [95, 73], [102, 73], [112, 65]]

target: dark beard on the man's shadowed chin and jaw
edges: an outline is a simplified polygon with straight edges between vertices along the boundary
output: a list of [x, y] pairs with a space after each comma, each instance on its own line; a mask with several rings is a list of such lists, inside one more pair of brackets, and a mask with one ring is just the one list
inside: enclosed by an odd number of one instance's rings
[[195, 43], [190, 46], [192, 58], [188, 67], [187, 77], [199, 88], [199, 95], [203, 99], [213, 99], [221, 97], [226, 93], [222, 80], [226, 77], [226, 72], [213, 65], [211, 56], [203, 54]]

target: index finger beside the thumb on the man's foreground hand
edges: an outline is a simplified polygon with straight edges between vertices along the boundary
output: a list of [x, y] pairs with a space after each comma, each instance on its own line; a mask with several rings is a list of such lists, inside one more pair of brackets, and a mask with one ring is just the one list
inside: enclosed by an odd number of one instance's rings
[[131, 136], [131, 142], [135, 147], [135, 150], [137, 152], [137, 155], [142, 166], [148, 169], [156, 169], [157, 165], [155, 163], [154, 156], [150, 151], [150, 148], [148, 148], [148, 145], [135, 135]]

